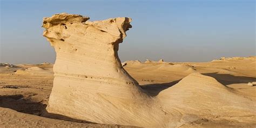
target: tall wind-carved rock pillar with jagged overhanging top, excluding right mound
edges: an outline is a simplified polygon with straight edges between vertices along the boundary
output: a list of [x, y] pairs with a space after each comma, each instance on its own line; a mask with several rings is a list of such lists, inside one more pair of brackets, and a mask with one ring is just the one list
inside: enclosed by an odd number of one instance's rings
[[160, 112], [152, 107], [156, 101], [143, 92], [118, 58], [118, 45], [131, 28], [131, 18], [87, 19], [69, 14], [44, 18], [43, 36], [57, 55], [47, 111], [106, 124], [162, 122], [152, 118]]

